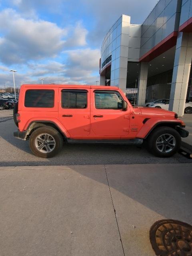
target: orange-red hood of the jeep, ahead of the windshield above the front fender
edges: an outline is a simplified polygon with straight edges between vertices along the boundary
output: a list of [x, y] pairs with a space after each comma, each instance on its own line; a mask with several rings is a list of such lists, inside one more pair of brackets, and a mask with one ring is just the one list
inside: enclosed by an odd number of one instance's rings
[[135, 114], [142, 114], [147, 116], [175, 116], [175, 112], [164, 110], [162, 108], [150, 108], [150, 107], [136, 107], [134, 108]]

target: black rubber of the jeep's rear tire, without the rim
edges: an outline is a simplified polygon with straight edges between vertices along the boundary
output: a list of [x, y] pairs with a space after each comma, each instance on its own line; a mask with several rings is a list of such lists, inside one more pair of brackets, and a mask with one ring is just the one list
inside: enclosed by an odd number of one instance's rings
[[[35, 139], [39, 134], [42, 134], [42, 133], [50, 134], [54, 138], [56, 145], [52, 152], [42, 153], [36, 148]], [[29, 139], [30, 150], [33, 152], [34, 155], [42, 158], [50, 158], [55, 156], [62, 148], [62, 145], [63, 145], [63, 139], [60, 132], [48, 126], [42, 126], [34, 130], [34, 132], [32, 132], [32, 134], [30, 135], [30, 139]]]

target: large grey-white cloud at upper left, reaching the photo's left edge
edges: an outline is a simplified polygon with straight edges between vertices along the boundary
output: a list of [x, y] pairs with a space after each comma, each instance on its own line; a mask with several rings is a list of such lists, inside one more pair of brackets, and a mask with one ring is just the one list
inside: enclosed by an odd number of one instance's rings
[[[4, 26], [6, 24], [6, 26]], [[71, 31], [71, 32], [69, 32]], [[88, 31], [77, 22], [60, 28], [44, 20], [25, 19], [12, 9], [0, 12], [0, 60], [25, 64], [29, 60], [54, 58], [64, 49], [86, 45]]]

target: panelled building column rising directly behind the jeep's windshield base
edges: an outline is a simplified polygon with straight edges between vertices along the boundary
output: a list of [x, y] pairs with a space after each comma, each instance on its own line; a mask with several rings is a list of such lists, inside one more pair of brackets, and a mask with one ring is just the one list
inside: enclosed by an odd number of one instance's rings
[[148, 76], [148, 62], [141, 62], [139, 79], [138, 79], [137, 106], [144, 106], [145, 104], [147, 76]]

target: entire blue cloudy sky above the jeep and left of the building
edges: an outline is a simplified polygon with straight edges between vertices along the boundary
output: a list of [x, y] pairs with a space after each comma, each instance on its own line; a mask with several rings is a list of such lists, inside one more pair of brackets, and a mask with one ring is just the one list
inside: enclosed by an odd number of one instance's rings
[[0, 0], [0, 88], [96, 84], [102, 40], [121, 16], [142, 24], [157, 0]]

